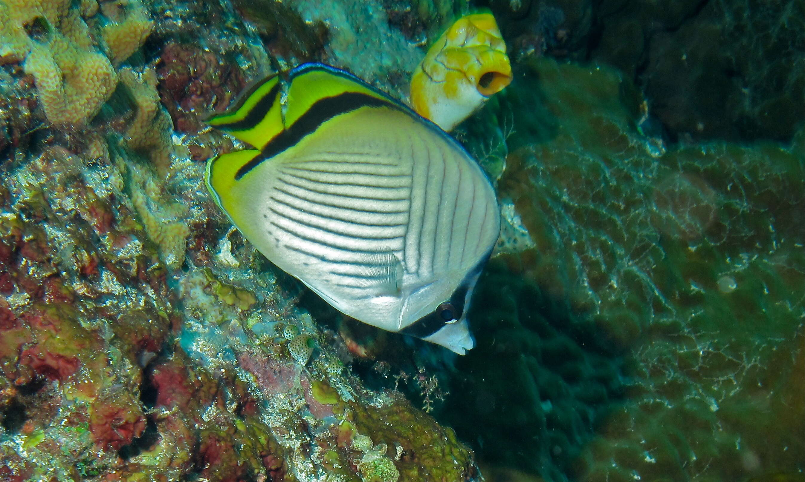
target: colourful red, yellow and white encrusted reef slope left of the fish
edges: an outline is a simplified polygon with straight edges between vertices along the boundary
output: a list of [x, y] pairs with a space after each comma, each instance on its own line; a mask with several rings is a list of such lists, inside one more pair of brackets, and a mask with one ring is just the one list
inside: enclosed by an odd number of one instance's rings
[[[296, 306], [299, 285], [203, 190], [200, 161], [237, 144], [201, 116], [270, 70], [252, 27], [226, 2], [23, 6], [14, 14], [34, 20], [9, 22], [2, 35], [19, 42], [0, 66], [13, 100], [0, 478], [480, 480], [450, 429], [345, 369], [332, 333]], [[51, 96], [56, 67], [64, 92]]]

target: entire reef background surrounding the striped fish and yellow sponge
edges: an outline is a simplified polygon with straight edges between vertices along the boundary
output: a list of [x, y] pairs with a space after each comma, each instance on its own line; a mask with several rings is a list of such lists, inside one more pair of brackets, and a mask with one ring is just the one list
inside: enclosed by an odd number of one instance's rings
[[[306, 311], [203, 119], [301, 59], [404, 97], [467, 4], [248, 3], [0, 0], [0, 479], [801, 478], [801, 6], [489, 2], [514, 81], [456, 137], [504, 236], [455, 358]], [[668, 108], [724, 76], [729, 121]]]

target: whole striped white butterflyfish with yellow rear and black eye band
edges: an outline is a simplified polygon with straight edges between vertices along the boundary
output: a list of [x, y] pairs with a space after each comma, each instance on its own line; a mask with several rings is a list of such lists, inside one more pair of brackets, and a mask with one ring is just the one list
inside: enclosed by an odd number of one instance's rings
[[306, 63], [210, 125], [215, 202], [266, 258], [345, 315], [472, 349], [467, 312], [500, 231], [497, 197], [452, 137], [346, 71]]

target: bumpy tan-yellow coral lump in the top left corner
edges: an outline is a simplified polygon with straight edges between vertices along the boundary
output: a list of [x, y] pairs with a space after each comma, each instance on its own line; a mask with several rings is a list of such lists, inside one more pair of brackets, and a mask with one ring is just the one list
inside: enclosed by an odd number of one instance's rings
[[0, 57], [24, 63], [52, 125], [81, 128], [109, 100], [118, 84], [116, 67], [152, 27], [138, 0], [104, 2], [100, 9], [94, 0], [75, 6], [61, 0], [3, 0]]

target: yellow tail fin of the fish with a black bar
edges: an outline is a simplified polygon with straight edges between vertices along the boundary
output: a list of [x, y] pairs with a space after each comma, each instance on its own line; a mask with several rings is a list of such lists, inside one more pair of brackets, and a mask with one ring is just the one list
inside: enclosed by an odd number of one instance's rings
[[262, 149], [283, 131], [279, 76], [246, 89], [232, 108], [207, 120], [209, 125]]

